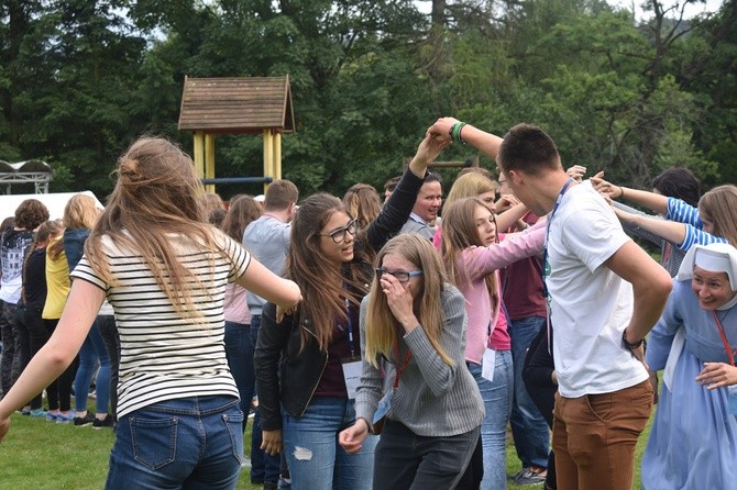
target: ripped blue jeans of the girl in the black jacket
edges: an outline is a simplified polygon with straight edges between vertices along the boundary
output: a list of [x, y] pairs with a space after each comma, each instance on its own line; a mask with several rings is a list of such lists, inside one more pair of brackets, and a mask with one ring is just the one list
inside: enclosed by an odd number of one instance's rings
[[314, 398], [299, 419], [283, 409], [282, 421], [293, 490], [372, 488], [378, 437], [369, 435], [354, 455], [338, 444], [338, 433], [355, 423], [353, 400]]

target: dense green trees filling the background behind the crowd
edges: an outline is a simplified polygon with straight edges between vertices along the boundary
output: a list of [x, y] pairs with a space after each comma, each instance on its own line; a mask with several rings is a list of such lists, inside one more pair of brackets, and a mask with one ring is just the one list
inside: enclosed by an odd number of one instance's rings
[[[138, 135], [191, 148], [185, 75], [288, 74], [284, 177], [302, 196], [381, 188], [439, 115], [536, 123], [565, 166], [635, 187], [673, 165], [736, 182], [737, 0], [684, 19], [688, 3], [644, 2], [638, 21], [603, 0], [0, 0], [0, 159], [103, 197]], [[218, 177], [262, 175], [261, 144], [219, 136]]]

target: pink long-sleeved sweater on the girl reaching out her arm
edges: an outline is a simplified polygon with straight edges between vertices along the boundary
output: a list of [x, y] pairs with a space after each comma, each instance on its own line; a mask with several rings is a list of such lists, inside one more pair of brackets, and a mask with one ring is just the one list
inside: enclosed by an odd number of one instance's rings
[[[493, 274], [501, 292], [498, 269], [520, 258], [539, 255], [546, 236], [544, 225], [526, 230], [515, 238], [504, 240], [488, 247], [469, 247], [459, 257], [460, 277], [469, 277], [469, 282], [459, 285], [465, 298], [465, 312], [469, 320], [465, 341], [465, 360], [481, 364], [484, 349], [488, 345], [488, 325], [492, 328], [499, 318], [499, 304], [492, 311], [492, 299], [484, 278]], [[466, 276], [468, 275], [468, 276]], [[501, 294], [499, 294], [501, 298]]]

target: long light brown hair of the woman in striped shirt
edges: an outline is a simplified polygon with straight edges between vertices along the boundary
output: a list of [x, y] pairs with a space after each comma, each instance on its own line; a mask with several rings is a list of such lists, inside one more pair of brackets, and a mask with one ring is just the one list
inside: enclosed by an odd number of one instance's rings
[[201, 316], [193, 303], [200, 278], [179, 261], [168, 236], [188, 237], [224, 256], [215, 243], [216, 229], [207, 222], [204, 188], [191, 158], [167, 140], [142, 137], [120, 157], [116, 172], [116, 188], [85, 243], [90, 266], [106, 282], [116, 283], [102, 247], [107, 235], [141, 255], [177, 313]]

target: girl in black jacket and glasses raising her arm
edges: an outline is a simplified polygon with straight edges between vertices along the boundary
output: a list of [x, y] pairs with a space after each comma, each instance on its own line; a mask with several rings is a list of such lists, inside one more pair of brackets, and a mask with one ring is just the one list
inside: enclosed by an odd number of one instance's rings
[[286, 276], [304, 301], [294, 312], [267, 304], [255, 352], [262, 448], [287, 458], [292, 489], [371, 488], [371, 437], [354, 455], [338, 444], [355, 421], [361, 370], [359, 305], [369, 292], [373, 256], [407, 221], [427, 165], [448, 145], [427, 136], [381, 214], [361, 231], [336, 197], [301, 202], [292, 224]]

